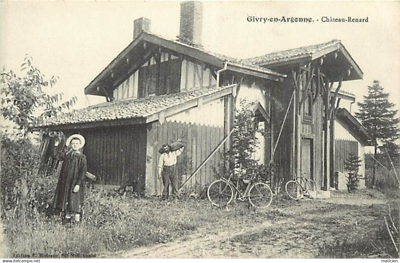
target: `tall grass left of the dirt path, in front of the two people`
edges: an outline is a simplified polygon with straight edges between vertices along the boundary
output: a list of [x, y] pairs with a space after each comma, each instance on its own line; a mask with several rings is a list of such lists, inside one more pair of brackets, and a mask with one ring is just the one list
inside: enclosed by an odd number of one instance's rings
[[116, 193], [87, 189], [81, 225], [68, 228], [45, 215], [6, 223], [9, 256], [42, 254], [48, 257], [92, 256], [168, 243], [198, 227], [226, 222], [260, 222], [265, 214], [250, 211], [245, 203], [229, 209], [212, 207], [208, 200], [184, 197], [179, 202], [156, 197], [120, 197]]

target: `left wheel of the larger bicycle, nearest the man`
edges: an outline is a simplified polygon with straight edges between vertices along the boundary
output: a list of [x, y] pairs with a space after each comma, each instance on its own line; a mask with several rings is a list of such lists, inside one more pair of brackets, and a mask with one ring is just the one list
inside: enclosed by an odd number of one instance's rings
[[217, 180], [211, 183], [207, 190], [208, 200], [217, 206], [222, 207], [228, 205], [233, 198], [232, 187], [221, 180]]

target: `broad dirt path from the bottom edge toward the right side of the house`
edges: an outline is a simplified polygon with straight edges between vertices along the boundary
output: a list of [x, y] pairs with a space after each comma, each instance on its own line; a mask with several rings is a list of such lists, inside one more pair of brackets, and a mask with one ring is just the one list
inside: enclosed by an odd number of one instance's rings
[[[227, 221], [173, 242], [103, 255], [113, 258], [314, 258], [324, 242], [360, 233], [386, 199], [346, 197], [300, 201], [288, 214], [253, 226]], [[279, 209], [276, 209], [278, 211]], [[376, 210], [376, 209], [375, 209]], [[273, 210], [275, 211], [275, 210]]]

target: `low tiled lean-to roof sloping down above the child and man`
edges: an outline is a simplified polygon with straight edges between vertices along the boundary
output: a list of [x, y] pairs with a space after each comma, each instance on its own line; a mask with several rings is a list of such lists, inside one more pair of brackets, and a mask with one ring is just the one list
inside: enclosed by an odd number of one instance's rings
[[200, 90], [142, 99], [123, 99], [113, 102], [103, 102], [89, 106], [88, 108], [73, 110], [70, 114], [46, 119], [44, 123], [38, 127], [147, 117], [173, 106], [178, 106], [227, 88], [232, 88], [232, 85], [203, 88]]

